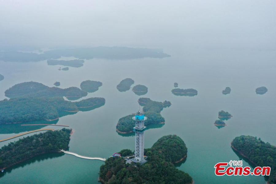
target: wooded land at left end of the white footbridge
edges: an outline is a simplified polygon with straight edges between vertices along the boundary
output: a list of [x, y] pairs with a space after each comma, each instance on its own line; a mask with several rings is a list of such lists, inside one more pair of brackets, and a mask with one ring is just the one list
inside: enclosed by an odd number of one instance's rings
[[11, 142], [0, 149], [0, 170], [11, 167], [37, 155], [67, 150], [71, 129], [63, 128], [56, 131], [27, 136]]

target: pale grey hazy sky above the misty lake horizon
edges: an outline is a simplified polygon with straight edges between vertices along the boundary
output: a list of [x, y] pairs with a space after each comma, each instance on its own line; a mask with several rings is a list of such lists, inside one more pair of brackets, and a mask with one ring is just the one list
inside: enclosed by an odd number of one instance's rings
[[275, 0], [0, 0], [0, 49], [275, 50]]

